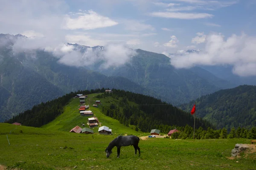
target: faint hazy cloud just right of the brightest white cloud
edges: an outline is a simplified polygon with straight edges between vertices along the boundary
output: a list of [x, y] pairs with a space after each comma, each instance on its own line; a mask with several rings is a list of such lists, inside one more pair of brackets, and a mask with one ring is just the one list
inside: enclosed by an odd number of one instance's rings
[[125, 24], [125, 29], [130, 31], [155, 30], [153, 26], [137, 20], [124, 20], [123, 23]]

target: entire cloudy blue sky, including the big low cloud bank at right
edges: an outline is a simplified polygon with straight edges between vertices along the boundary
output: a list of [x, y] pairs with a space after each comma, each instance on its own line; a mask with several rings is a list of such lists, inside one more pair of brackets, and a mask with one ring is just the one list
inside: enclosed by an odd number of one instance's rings
[[200, 48], [203, 56], [173, 63], [231, 64], [247, 75], [248, 65], [256, 66], [255, 7], [256, 0], [9, 0], [1, 2], [0, 33], [41, 38], [40, 45], [52, 47], [122, 44], [167, 56]]

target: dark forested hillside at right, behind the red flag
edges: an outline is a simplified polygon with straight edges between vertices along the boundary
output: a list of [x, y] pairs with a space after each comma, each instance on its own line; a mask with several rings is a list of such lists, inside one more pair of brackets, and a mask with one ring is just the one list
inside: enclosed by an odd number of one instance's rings
[[181, 105], [185, 111], [191, 111], [196, 102], [196, 114], [215, 125], [225, 127], [256, 126], [256, 86], [241, 85], [236, 88], [217, 91], [202, 96], [188, 104]]

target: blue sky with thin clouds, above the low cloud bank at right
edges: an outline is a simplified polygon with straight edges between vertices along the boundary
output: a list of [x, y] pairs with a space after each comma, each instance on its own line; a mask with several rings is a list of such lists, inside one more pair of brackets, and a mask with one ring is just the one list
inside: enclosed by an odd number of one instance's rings
[[[5, 26], [0, 32], [44, 37], [56, 34], [63, 41], [88, 46], [121, 42], [158, 53], [175, 52], [203, 48], [202, 43], [192, 42], [197, 33], [213, 31], [229, 37], [244, 31], [254, 36], [255, 7], [256, 0], [9, 1], [1, 7], [5, 10], [1, 10], [0, 20]], [[9, 21], [2, 17], [9, 17]], [[70, 22], [63, 28], [65, 17]], [[38, 26], [31, 26], [30, 20], [38, 20]]]

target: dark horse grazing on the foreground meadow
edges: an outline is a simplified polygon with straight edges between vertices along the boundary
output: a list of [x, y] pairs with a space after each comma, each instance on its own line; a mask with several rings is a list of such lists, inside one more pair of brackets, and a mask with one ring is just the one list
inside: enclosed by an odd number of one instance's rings
[[107, 158], [112, 153], [113, 147], [117, 147], [117, 158], [120, 156], [120, 148], [121, 146], [130, 146], [133, 145], [135, 149], [135, 155], [137, 154], [137, 150], [139, 150], [139, 156], [140, 156], [140, 147], [138, 147], [140, 138], [134, 135], [129, 136], [118, 136], [113, 141], [111, 141], [105, 150]]

